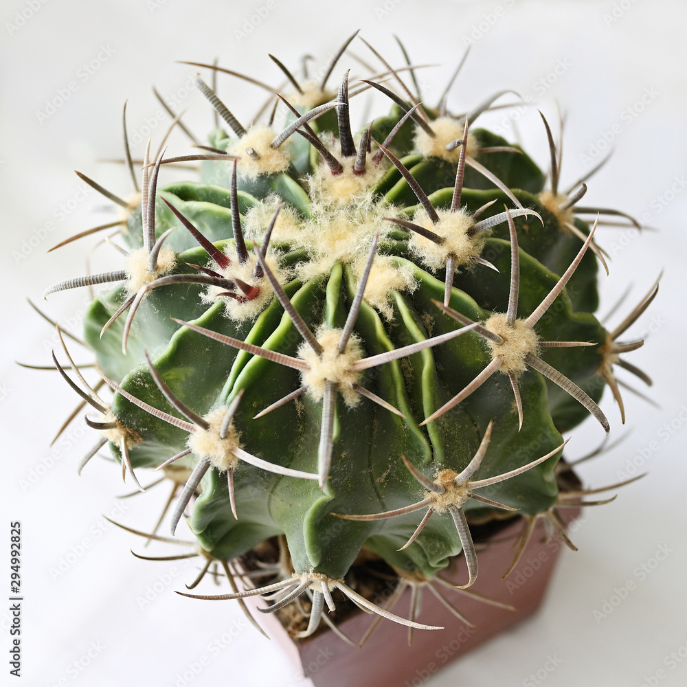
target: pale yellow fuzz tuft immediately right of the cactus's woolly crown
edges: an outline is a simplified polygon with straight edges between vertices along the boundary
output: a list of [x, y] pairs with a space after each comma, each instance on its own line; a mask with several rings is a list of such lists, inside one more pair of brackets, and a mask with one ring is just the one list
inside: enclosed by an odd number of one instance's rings
[[420, 208], [413, 217], [413, 222], [420, 227], [429, 229], [441, 236], [442, 243], [434, 243], [425, 236], [412, 232], [410, 237], [410, 249], [432, 271], [436, 272], [446, 267], [449, 256], [455, 258], [455, 267], [462, 267], [472, 262], [473, 258], [479, 258], [484, 248], [484, 232], [476, 236], [469, 236], [469, 229], [475, 221], [462, 208], [457, 212], [449, 210], [437, 210], [439, 221], [433, 224], [424, 208]]

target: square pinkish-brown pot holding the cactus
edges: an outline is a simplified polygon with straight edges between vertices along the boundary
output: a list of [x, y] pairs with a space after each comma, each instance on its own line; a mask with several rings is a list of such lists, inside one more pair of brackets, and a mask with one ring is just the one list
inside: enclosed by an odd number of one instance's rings
[[[563, 511], [567, 525], [578, 513], [579, 509], [574, 508]], [[443, 666], [528, 618], [541, 605], [563, 542], [559, 537], [544, 541], [540, 519], [517, 567], [504, 580], [502, 575], [513, 560], [513, 545], [522, 526], [523, 521], [515, 519], [488, 540], [488, 546], [478, 554], [480, 574], [477, 582], [470, 587], [470, 591], [515, 606], [515, 611], [442, 589], [444, 596], [474, 627], [449, 613], [427, 590], [417, 620], [442, 625], [444, 629], [416, 630], [411, 645], [408, 644], [407, 628], [388, 620], [382, 620], [362, 649], [349, 646], [331, 631], [295, 642], [272, 614], [262, 616], [261, 624], [271, 638], [282, 644], [291, 657], [295, 672], [310, 677], [317, 687], [418, 686]], [[464, 565], [459, 570], [459, 581], [456, 581], [455, 570], [449, 570], [444, 577], [460, 583], [465, 576]], [[407, 590], [394, 605], [395, 613], [407, 617], [409, 595]], [[375, 599], [375, 602], [383, 604], [383, 600]], [[339, 628], [357, 642], [375, 617], [356, 613]]]

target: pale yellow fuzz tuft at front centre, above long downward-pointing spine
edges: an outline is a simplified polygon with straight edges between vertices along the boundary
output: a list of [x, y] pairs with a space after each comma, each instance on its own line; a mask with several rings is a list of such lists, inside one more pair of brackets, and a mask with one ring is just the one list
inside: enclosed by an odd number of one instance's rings
[[343, 396], [348, 407], [357, 405], [360, 401], [358, 392], [353, 385], [357, 383], [360, 372], [352, 369], [355, 361], [363, 357], [363, 349], [359, 339], [352, 335], [346, 344], [346, 350], [339, 353], [340, 329], [322, 328], [317, 333], [317, 341], [324, 348], [318, 355], [308, 345], [302, 343], [298, 348], [298, 357], [308, 363], [308, 370], [302, 372], [302, 383], [315, 401], [322, 401], [326, 382], [337, 385], [337, 391]]

